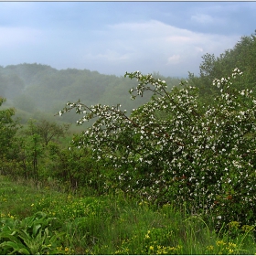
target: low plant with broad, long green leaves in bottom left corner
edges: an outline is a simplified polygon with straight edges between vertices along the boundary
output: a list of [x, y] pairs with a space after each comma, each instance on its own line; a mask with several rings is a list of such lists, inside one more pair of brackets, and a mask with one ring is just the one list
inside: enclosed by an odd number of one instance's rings
[[37, 212], [21, 221], [14, 218], [0, 220], [1, 254], [66, 254], [60, 240], [65, 233], [59, 232], [61, 224], [57, 218]]

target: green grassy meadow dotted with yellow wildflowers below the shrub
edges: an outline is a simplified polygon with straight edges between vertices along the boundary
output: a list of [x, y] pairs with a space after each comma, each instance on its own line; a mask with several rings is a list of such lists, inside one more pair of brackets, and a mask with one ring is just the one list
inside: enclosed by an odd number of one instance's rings
[[60, 220], [62, 228], [58, 232], [66, 234], [61, 240], [62, 253], [66, 254], [256, 252], [251, 231], [235, 229], [235, 236], [226, 233], [220, 238], [211, 227], [210, 216], [205, 220], [171, 205], [152, 207], [122, 191], [101, 197], [78, 197], [58, 191], [53, 184], [35, 186], [33, 182], [0, 176], [2, 219], [22, 220], [40, 211], [48, 218]]

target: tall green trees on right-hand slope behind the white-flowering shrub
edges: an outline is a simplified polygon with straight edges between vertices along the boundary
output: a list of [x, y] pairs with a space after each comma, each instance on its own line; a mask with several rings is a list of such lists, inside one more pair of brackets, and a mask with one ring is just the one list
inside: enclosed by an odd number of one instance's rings
[[[253, 90], [255, 88], [256, 71], [256, 33], [251, 36], [241, 37], [234, 48], [226, 50], [216, 57], [214, 54], [205, 54], [200, 64], [200, 77], [189, 74], [190, 82], [194, 82], [200, 88], [201, 100], [205, 103], [214, 104], [212, 99], [219, 95], [216, 88], [212, 88], [211, 83], [215, 78], [225, 78], [229, 76], [229, 70], [240, 67], [243, 70], [243, 80], [235, 80], [233, 86], [238, 90]], [[252, 92], [256, 95], [256, 91]]]

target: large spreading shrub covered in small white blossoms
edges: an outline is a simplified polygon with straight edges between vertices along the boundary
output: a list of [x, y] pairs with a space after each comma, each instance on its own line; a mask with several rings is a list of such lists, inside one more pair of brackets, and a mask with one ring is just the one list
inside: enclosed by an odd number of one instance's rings
[[165, 80], [139, 71], [131, 98], [152, 92], [151, 101], [130, 116], [121, 105], [87, 106], [68, 102], [59, 112], [83, 113], [79, 125], [95, 123], [73, 144], [91, 147], [93, 157], [115, 169], [115, 184], [127, 193], [157, 203], [187, 202], [194, 210], [215, 214], [216, 224], [255, 221], [255, 108], [249, 90], [232, 88], [242, 75], [214, 80], [214, 106], [206, 106], [189, 81], [167, 91]]

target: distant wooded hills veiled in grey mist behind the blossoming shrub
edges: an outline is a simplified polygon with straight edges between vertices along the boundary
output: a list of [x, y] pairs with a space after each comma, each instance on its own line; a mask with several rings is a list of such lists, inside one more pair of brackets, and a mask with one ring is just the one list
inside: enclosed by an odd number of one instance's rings
[[[165, 79], [169, 87], [179, 83], [177, 78], [154, 75]], [[78, 119], [74, 113], [54, 117], [68, 101], [80, 100], [87, 105], [121, 103], [122, 109], [130, 112], [150, 99], [144, 95], [131, 101], [128, 91], [136, 84], [136, 80], [88, 69], [59, 70], [37, 63], [0, 66], [0, 96], [6, 98], [5, 106], [16, 108], [21, 123], [27, 123], [29, 118], [73, 123]]]

